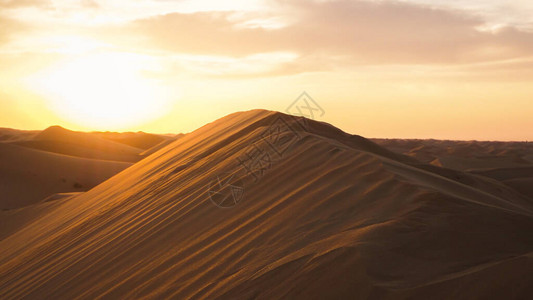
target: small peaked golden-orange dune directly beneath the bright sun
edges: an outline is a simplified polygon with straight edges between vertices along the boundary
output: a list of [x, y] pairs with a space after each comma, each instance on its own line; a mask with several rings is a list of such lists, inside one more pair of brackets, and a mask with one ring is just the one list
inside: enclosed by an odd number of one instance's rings
[[33, 139], [16, 144], [42, 151], [100, 160], [136, 162], [142, 158], [139, 155], [142, 149], [60, 126], [49, 127]]

